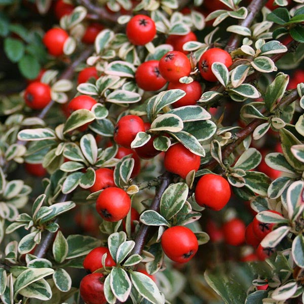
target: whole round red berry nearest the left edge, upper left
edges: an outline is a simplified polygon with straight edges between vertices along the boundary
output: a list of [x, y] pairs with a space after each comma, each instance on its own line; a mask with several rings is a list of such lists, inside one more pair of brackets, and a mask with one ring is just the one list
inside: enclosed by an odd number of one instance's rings
[[25, 89], [24, 100], [32, 109], [43, 109], [51, 101], [51, 88], [41, 82], [31, 83]]

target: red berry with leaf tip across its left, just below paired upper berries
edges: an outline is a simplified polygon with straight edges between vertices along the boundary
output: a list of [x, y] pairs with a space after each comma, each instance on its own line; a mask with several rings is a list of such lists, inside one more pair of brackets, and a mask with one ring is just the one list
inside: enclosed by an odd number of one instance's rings
[[180, 89], [186, 93], [184, 97], [172, 103], [174, 108], [185, 105], [195, 105], [202, 95], [202, 87], [198, 81], [193, 81], [190, 84], [181, 84], [179, 82], [169, 83], [168, 90], [173, 89]]

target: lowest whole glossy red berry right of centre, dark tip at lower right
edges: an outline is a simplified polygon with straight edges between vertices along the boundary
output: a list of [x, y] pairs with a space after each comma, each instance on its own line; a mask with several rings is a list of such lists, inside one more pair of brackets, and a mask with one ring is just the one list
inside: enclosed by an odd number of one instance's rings
[[162, 235], [161, 244], [165, 254], [178, 263], [191, 260], [199, 248], [197, 237], [185, 226], [167, 229]]

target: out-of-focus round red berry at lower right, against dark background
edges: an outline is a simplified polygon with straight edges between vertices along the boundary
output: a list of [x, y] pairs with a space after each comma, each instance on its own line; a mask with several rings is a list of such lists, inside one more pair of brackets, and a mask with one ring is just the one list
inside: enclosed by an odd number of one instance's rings
[[233, 218], [223, 224], [225, 242], [229, 245], [238, 246], [245, 242], [245, 223], [239, 218]]

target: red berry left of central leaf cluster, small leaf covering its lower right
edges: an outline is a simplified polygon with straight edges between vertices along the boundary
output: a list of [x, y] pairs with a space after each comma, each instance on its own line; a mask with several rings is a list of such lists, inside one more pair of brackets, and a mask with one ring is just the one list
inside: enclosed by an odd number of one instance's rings
[[114, 129], [114, 140], [116, 143], [126, 147], [131, 147], [131, 142], [138, 132], [144, 132], [143, 120], [136, 115], [123, 116]]

